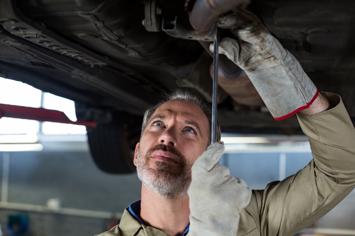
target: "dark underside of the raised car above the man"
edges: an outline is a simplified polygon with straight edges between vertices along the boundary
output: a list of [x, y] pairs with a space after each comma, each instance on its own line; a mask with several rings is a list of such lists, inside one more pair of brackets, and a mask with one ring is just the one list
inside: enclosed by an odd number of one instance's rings
[[[190, 88], [211, 102], [206, 48], [214, 23], [231, 14], [226, 6], [243, 5], [298, 59], [319, 91], [342, 97], [355, 119], [355, 2], [215, 2], [220, 12], [211, 16], [198, 0], [1, 0], [0, 76], [74, 100], [78, 119], [97, 123], [88, 128], [88, 140], [99, 168], [131, 172], [143, 112], [162, 92]], [[227, 60], [222, 65], [222, 132], [301, 133], [295, 116], [273, 119], [243, 71]]]

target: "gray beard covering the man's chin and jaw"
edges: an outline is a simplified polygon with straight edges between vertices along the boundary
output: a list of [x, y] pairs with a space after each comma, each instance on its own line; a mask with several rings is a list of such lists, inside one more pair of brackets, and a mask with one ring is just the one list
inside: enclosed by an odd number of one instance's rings
[[[137, 175], [147, 189], [171, 199], [184, 198], [191, 183], [191, 166], [184, 162], [176, 174], [169, 172], [171, 164], [156, 161], [157, 169], [150, 169], [148, 161], [150, 153], [141, 155], [139, 147], [137, 153]], [[186, 160], [186, 159], [184, 159]]]

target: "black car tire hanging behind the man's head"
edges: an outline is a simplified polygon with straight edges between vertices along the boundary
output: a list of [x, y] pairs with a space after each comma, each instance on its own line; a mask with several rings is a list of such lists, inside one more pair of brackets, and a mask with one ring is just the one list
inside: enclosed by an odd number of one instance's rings
[[111, 174], [136, 171], [133, 157], [140, 137], [141, 121], [139, 117], [126, 113], [113, 113], [110, 122], [88, 129], [91, 156], [100, 170]]

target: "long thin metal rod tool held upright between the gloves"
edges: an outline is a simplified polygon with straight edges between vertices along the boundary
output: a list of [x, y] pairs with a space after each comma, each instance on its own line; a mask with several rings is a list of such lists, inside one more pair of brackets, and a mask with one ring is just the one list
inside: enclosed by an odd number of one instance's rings
[[217, 33], [214, 41], [213, 55], [213, 77], [212, 77], [212, 122], [211, 122], [211, 143], [217, 142], [217, 93], [218, 93], [218, 45], [220, 42], [220, 31]]

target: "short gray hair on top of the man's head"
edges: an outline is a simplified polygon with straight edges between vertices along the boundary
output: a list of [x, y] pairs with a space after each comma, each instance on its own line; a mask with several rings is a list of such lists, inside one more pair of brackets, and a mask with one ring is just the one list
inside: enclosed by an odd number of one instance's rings
[[[207, 103], [205, 100], [203, 100], [196, 92], [190, 90], [190, 89], [175, 89], [172, 90], [171, 93], [165, 94], [164, 99], [160, 101], [158, 104], [156, 104], [153, 107], [149, 107], [146, 109], [144, 113], [144, 118], [143, 118], [143, 124], [142, 124], [142, 129], [140, 133], [140, 137], [143, 135], [144, 131], [146, 130], [147, 123], [152, 116], [152, 114], [156, 111], [156, 109], [163, 105], [165, 102], [171, 101], [171, 100], [180, 100], [180, 101], [188, 101], [188, 102], [193, 102], [195, 103], [202, 111], [203, 113], [207, 116], [208, 123], [209, 123], [209, 133], [208, 133], [208, 138], [209, 142], [208, 144], [211, 143], [211, 124], [212, 124], [212, 109], [209, 103]], [[221, 127], [217, 122], [217, 141], [221, 140]]]

